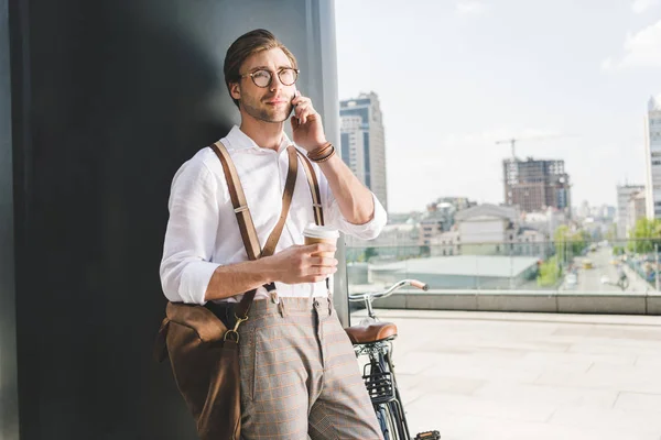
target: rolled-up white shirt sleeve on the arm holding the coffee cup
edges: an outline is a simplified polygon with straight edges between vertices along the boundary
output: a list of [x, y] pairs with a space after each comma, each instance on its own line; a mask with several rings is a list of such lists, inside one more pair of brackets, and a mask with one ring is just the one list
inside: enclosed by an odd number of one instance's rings
[[160, 274], [169, 300], [204, 305], [207, 286], [219, 266], [212, 262], [218, 231], [218, 184], [204, 163], [192, 161], [182, 165], [172, 182]]

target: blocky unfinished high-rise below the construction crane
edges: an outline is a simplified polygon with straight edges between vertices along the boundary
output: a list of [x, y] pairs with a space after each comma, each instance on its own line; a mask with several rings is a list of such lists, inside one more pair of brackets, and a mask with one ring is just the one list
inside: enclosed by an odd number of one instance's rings
[[524, 212], [557, 208], [571, 213], [570, 175], [564, 161], [502, 161], [505, 202]]

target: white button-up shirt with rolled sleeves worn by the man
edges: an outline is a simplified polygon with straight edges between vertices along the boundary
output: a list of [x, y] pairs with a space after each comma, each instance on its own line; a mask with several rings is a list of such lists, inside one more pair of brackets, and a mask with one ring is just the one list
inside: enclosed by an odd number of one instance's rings
[[[283, 133], [278, 152], [261, 148], [236, 125], [220, 141], [235, 163], [263, 248], [282, 209], [282, 193], [289, 169], [286, 147], [291, 141]], [[351, 224], [342, 216], [318, 165], [313, 166], [319, 182], [326, 226], [364, 240], [375, 239], [386, 224], [387, 215], [373, 194], [373, 218], [365, 224]], [[203, 305], [216, 267], [248, 261], [223, 165], [210, 147], [197, 152], [176, 172], [169, 209], [170, 220], [160, 271], [163, 293], [171, 301]], [[303, 244], [303, 229], [308, 223], [314, 223], [312, 196], [303, 166], [299, 164], [292, 205], [275, 253], [294, 244]], [[324, 282], [296, 285], [275, 283], [275, 288], [280, 297], [327, 295]], [[266, 288], [260, 287], [254, 298], [268, 297]], [[241, 295], [237, 295], [228, 300], [238, 301], [240, 298]]]

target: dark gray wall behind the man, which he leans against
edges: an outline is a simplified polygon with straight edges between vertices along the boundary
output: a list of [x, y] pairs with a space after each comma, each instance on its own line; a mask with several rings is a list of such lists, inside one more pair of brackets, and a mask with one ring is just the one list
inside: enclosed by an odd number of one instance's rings
[[[2, 427], [15, 418], [15, 327], [21, 440], [193, 439], [169, 366], [151, 358], [165, 306], [158, 270], [170, 184], [185, 160], [238, 121], [223, 58], [254, 28], [270, 29], [296, 54], [299, 88], [337, 143], [333, 3], [9, 3], [13, 139], [0, 125], [0, 373], [10, 397]], [[3, 57], [4, 46], [0, 36]]]

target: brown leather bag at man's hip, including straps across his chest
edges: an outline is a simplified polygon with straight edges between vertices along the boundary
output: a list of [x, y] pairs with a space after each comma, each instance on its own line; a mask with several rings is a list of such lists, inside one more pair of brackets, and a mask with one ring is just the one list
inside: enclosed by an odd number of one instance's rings
[[[275, 228], [269, 235], [263, 251], [237, 170], [225, 146], [217, 142], [212, 146], [223, 163], [241, 239], [250, 260], [272, 255], [282, 234], [294, 193], [297, 160], [307, 175], [312, 194], [315, 222], [324, 224], [318, 182], [307, 157], [293, 145], [288, 147], [289, 172], [282, 195], [282, 211]], [[273, 290], [274, 285], [264, 286]], [[161, 324], [155, 344], [155, 356], [162, 362], [170, 358], [172, 372], [180, 393], [197, 424], [197, 435], [203, 440], [239, 440], [241, 433], [239, 333], [241, 322], [248, 319], [256, 289], [243, 295], [241, 301], [224, 304], [229, 308], [228, 326], [207, 306], [169, 302], [166, 318]]]

